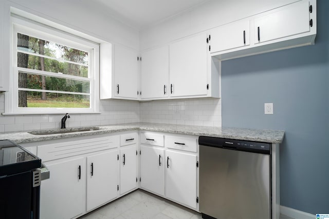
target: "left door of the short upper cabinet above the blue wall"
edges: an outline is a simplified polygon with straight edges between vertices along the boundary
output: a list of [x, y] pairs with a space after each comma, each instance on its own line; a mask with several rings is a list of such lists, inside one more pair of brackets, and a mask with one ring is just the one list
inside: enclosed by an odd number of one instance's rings
[[249, 19], [233, 22], [211, 31], [211, 53], [250, 45]]

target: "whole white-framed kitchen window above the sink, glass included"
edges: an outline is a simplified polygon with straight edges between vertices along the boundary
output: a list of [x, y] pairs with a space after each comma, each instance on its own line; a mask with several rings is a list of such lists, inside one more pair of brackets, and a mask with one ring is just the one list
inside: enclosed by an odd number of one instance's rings
[[99, 106], [99, 45], [11, 17], [8, 114], [93, 113]]

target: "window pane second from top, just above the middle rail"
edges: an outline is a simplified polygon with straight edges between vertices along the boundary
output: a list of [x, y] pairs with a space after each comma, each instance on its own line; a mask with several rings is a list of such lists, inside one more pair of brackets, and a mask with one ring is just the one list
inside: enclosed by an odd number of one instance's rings
[[[26, 59], [27, 63], [23, 62]], [[88, 77], [88, 67], [17, 52], [17, 67]]]

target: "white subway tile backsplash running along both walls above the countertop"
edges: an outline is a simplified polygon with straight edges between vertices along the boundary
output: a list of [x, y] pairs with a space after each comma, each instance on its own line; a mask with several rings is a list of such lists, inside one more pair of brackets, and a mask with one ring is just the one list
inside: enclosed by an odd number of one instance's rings
[[[0, 113], [4, 112], [0, 94]], [[120, 123], [164, 123], [222, 126], [221, 99], [177, 99], [136, 102], [106, 99], [100, 101], [100, 114], [70, 114], [66, 127], [114, 125]], [[54, 129], [61, 127], [64, 114], [1, 115], [0, 132]]]

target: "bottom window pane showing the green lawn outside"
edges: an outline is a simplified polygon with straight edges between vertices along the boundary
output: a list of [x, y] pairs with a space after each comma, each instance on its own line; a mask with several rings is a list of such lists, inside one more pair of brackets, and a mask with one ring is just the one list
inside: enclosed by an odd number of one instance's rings
[[[45, 108], [90, 108], [90, 96], [79, 94], [45, 93], [46, 99], [42, 100], [43, 92], [19, 91], [27, 95], [27, 107]], [[24, 107], [21, 105], [19, 107]]]

